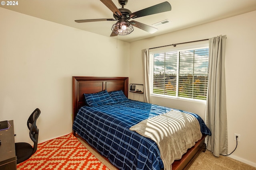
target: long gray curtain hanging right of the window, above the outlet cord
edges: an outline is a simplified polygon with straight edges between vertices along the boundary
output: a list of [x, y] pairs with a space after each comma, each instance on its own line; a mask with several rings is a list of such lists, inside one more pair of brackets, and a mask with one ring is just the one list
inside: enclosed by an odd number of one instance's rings
[[207, 149], [214, 156], [228, 154], [228, 131], [225, 86], [226, 35], [209, 39], [209, 80], [206, 104], [206, 124], [212, 132]]

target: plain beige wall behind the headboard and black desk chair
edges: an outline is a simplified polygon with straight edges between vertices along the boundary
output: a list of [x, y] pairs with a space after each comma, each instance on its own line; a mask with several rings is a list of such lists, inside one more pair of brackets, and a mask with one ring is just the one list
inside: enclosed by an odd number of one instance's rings
[[[14, 120], [16, 142], [72, 131], [72, 76], [129, 76], [130, 44], [0, 8], [0, 120]], [[107, 63], [107, 64], [106, 64]]]

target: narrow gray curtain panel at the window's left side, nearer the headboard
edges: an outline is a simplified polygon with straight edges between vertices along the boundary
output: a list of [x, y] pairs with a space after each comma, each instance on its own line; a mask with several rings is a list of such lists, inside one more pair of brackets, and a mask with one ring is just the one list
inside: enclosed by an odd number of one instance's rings
[[149, 88], [149, 49], [142, 50], [142, 68], [143, 68], [143, 84], [144, 84], [144, 102], [150, 103]]

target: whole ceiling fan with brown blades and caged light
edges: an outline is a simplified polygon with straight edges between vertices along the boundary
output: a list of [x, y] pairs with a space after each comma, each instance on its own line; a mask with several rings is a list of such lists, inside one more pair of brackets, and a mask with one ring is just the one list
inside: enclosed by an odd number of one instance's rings
[[117, 8], [116, 5], [112, 2], [112, 0], [100, 0], [105, 6], [107, 6], [112, 12], [115, 19], [107, 18], [107, 19], [90, 19], [90, 20], [75, 20], [78, 23], [83, 22], [94, 22], [94, 21], [117, 21], [112, 26], [112, 33], [110, 37], [114, 37], [117, 35], [128, 35], [130, 34], [134, 28], [140, 28], [144, 31], [147, 31], [149, 33], [154, 33], [158, 29], [151, 27], [149, 25], [146, 25], [144, 23], [140, 23], [138, 21], [128, 21], [131, 18], [139, 18], [143, 16], [149, 16], [152, 14], [158, 14], [161, 12], [167, 12], [172, 10], [172, 7], [169, 2], [162, 2], [160, 4], [156, 4], [154, 6], [145, 8], [143, 10], [139, 10], [137, 12], [131, 12], [130, 10], [124, 8], [124, 5], [127, 4], [128, 0], [118, 0], [118, 3], [122, 5], [122, 8]]

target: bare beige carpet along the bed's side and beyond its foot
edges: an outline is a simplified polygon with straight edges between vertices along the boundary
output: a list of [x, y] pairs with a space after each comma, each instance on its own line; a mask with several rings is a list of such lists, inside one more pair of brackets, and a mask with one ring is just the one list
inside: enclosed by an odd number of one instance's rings
[[[79, 138], [78, 138], [79, 139]], [[102, 157], [98, 152], [92, 149], [88, 144], [84, 143], [79, 139], [81, 143], [90, 151], [98, 160], [105, 164], [110, 170], [117, 170], [115, 166], [110, 164], [108, 160]], [[228, 156], [216, 157], [206, 150], [206, 152], [201, 152], [190, 166], [189, 170], [256, 170], [255, 167], [234, 160]]]

